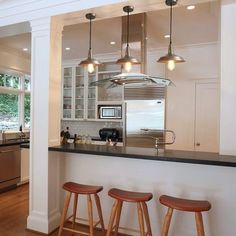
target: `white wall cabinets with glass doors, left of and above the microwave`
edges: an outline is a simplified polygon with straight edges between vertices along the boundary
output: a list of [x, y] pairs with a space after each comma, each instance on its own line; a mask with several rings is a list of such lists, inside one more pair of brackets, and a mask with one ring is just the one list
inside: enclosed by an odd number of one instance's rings
[[107, 86], [91, 86], [96, 80], [109, 78], [120, 73], [115, 63], [103, 63], [93, 73], [78, 65], [63, 67], [62, 119], [97, 120], [99, 104], [122, 103], [123, 87], [107, 89]]

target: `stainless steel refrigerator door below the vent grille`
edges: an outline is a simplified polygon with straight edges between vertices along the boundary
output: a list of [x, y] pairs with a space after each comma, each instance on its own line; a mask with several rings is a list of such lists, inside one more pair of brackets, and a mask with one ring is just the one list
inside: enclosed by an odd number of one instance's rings
[[163, 141], [165, 100], [125, 101], [125, 145], [155, 147], [155, 138]]

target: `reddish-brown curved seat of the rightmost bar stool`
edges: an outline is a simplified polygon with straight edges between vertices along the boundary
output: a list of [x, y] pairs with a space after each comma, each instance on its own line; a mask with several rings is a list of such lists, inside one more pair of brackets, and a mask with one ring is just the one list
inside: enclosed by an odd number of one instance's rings
[[201, 212], [211, 209], [211, 204], [208, 201], [188, 200], [167, 195], [160, 197], [160, 203], [180, 211]]

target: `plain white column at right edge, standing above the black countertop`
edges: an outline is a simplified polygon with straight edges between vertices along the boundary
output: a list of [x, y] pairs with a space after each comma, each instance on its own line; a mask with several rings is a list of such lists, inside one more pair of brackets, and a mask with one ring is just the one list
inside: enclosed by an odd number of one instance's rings
[[221, 110], [220, 153], [236, 154], [236, 3], [221, 6]]

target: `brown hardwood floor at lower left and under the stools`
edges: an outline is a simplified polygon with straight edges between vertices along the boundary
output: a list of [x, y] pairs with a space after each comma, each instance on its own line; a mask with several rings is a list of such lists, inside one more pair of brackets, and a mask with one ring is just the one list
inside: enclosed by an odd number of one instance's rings
[[[14, 190], [0, 193], [0, 236], [39, 236], [42, 234], [26, 230], [27, 216], [29, 212], [29, 186], [22, 185]], [[80, 230], [88, 230], [81, 227]], [[56, 236], [57, 231], [51, 236]], [[63, 236], [72, 235], [64, 231]], [[75, 235], [75, 234], [74, 234]], [[94, 236], [102, 236], [101, 231], [96, 231]]]

